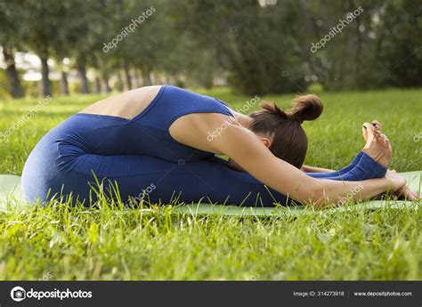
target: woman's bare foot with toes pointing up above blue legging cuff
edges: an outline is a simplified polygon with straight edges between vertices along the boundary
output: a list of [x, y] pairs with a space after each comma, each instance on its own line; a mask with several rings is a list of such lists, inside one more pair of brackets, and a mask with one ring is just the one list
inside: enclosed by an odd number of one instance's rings
[[390, 141], [385, 134], [381, 133], [381, 125], [378, 126], [379, 128], [376, 128], [376, 125], [363, 124], [362, 133], [366, 144], [362, 151], [382, 166], [387, 167], [393, 156], [393, 150]]

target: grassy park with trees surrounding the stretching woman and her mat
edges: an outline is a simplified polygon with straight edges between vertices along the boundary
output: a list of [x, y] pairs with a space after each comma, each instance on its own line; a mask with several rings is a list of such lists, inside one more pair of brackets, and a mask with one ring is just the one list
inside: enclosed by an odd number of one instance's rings
[[[421, 28], [410, 0], [0, 0], [0, 174], [20, 175], [71, 114], [156, 84], [248, 111], [256, 95], [288, 107], [316, 93], [325, 109], [304, 123], [306, 164], [345, 166], [377, 118], [391, 168], [422, 170]], [[0, 279], [422, 277], [420, 206], [260, 218], [7, 205]]]

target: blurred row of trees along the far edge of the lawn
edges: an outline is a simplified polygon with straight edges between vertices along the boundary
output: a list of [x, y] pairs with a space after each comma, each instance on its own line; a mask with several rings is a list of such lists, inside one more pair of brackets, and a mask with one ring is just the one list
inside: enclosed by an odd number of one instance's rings
[[82, 93], [110, 92], [111, 79], [117, 90], [228, 82], [251, 94], [304, 92], [316, 82], [326, 90], [422, 85], [422, 4], [412, 0], [0, 0], [0, 27], [8, 80], [1, 86], [13, 97], [22, 95], [16, 52], [40, 58], [45, 95], [49, 59], [61, 71], [63, 94], [69, 69]]

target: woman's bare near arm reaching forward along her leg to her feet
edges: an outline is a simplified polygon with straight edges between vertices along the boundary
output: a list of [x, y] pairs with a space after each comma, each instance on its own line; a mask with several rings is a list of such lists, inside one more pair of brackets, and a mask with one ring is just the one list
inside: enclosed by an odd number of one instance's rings
[[212, 146], [216, 152], [232, 158], [258, 181], [302, 204], [324, 206], [344, 198], [358, 201], [375, 197], [389, 188], [399, 189], [406, 183], [400, 178], [363, 182], [313, 179], [295, 166], [276, 158], [255, 133], [240, 125], [229, 125], [212, 141]]

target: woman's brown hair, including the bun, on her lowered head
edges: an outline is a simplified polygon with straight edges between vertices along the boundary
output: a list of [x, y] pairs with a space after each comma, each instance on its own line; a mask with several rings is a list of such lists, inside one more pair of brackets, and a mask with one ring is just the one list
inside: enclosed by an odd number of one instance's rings
[[302, 167], [308, 138], [301, 124], [304, 120], [320, 117], [323, 109], [320, 98], [313, 94], [298, 95], [292, 101], [291, 109], [286, 111], [266, 101], [261, 107], [263, 109], [249, 115], [253, 119], [250, 130], [272, 139], [270, 150], [274, 156], [297, 168]]

